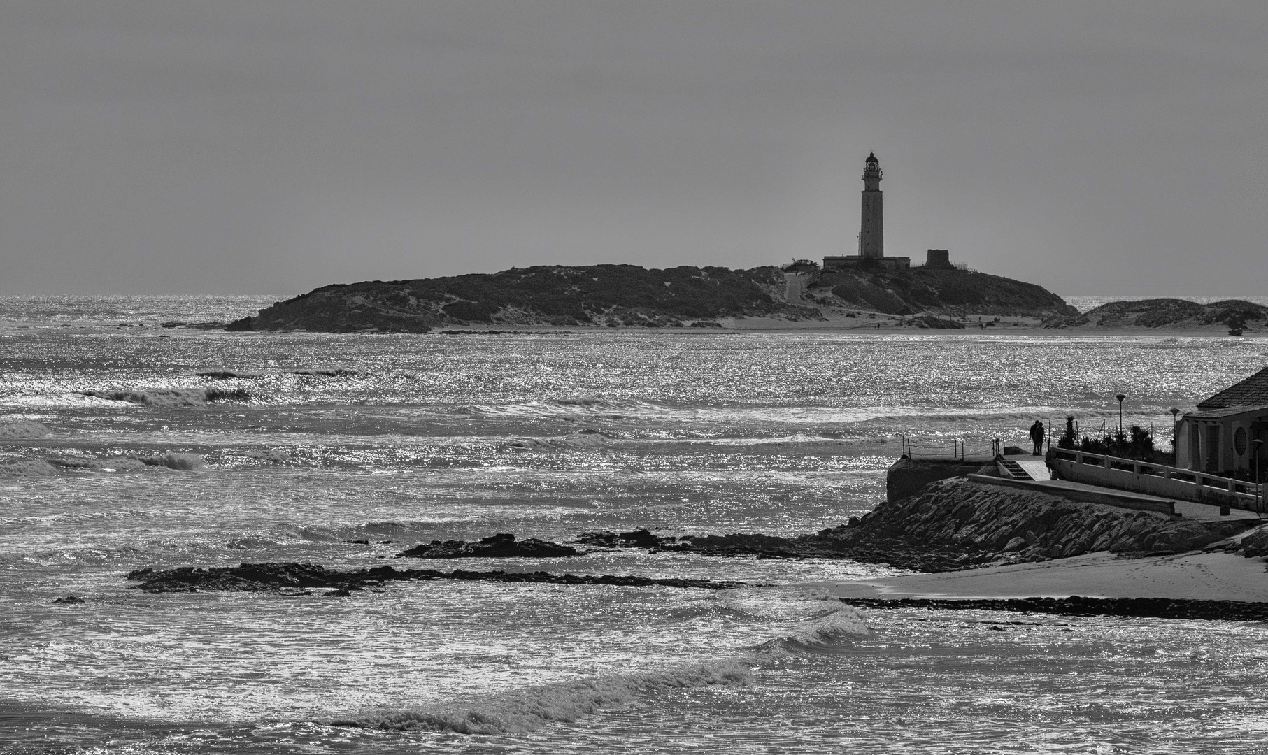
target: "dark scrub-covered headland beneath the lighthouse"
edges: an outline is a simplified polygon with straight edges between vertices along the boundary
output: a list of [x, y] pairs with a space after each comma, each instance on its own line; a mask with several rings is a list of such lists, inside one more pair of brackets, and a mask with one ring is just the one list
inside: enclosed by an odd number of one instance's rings
[[983, 314], [1044, 320], [1077, 317], [1078, 310], [1041, 286], [961, 270], [801, 275], [773, 266], [649, 270], [590, 265], [322, 286], [230, 323], [227, 329], [716, 328], [743, 327], [744, 320], [776, 326], [839, 320], [870, 327], [867, 320], [877, 315], [902, 318], [913, 327], [962, 328], [964, 318]]

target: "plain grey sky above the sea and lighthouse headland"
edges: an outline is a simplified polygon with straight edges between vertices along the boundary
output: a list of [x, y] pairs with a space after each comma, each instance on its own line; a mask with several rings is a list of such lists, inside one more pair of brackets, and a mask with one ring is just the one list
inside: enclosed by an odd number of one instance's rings
[[1265, 295], [1268, 4], [0, 3], [0, 294], [885, 250]]

